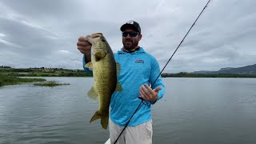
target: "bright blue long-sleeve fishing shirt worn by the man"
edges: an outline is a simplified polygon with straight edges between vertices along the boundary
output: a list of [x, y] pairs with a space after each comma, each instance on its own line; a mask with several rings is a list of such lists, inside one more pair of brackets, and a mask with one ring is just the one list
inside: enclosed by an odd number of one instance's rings
[[[157, 60], [146, 53], [141, 47], [133, 53], [126, 53], [122, 50], [114, 54], [115, 61], [121, 65], [118, 75], [118, 82], [122, 86], [122, 91], [115, 91], [110, 100], [110, 118], [118, 126], [125, 126], [131, 115], [138, 107], [141, 99], [138, 98], [140, 86], [143, 84], [153, 84], [160, 73]], [[85, 59], [84, 59], [85, 62]], [[88, 70], [85, 68], [85, 70]], [[158, 100], [165, 93], [161, 76], [156, 80], [153, 89], [158, 86], [162, 90], [158, 91]], [[130, 120], [128, 126], [137, 126], [152, 119], [150, 106], [154, 102], [143, 102]]]

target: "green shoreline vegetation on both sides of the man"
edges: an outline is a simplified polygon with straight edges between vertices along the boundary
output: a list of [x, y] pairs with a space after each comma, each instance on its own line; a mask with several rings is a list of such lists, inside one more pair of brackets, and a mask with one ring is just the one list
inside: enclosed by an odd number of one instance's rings
[[[84, 70], [67, 70], [62, 68], [26, 68], [15, 69], [10, 66], [0, 66], [0, 87], [16, 85], [26, 82], [34, 83], [34, 86], [61, 86], [68, 83], [46, 82], [45, 78], [22, 78], [22, 77], [92, 77]], [[181, 72], [178, 74], [162, 74], [162, 78], [256, 78], [256, 74], [195, 74]]]

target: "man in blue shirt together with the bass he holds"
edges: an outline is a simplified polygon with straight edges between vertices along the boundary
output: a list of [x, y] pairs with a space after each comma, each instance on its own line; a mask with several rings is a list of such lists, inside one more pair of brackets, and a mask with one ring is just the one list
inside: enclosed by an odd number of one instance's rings
[[157, 60], [138, 46], [142, 39], [138, 22], [126, 22], [120, 30], [123, 46], [115, 54], [100, 33], [78, 38], [78, 50], [84, 54], [83, 67], [94, 75], [94, 86], [88, 96], [99, 99], [98, 111], [90, 122], [101, 119], [104, 129], [109, 122], [110, 143], [114, 143], [142, 98], [142, 105], [116, 143], [150, 144], [153, 135], [150, 106], [163, 97], [165, 86], [161, 76], [158, 77]]

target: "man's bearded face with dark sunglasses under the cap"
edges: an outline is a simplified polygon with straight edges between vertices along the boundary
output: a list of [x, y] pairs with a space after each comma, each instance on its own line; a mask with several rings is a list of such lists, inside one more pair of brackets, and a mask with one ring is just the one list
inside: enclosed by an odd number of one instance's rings
[[134, 36], [138, 32], [132, 28], [127, 28], [122, 33], [122, 44], [126, 50], [134, 50], [138, 47], [138, 41], [142, 39], [142, 34]]

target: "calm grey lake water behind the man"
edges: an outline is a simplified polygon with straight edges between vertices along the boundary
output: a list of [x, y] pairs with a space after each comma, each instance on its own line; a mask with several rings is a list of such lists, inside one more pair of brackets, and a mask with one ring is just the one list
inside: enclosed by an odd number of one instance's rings
[[[0, 87], [0, 143], [104, 143], [109, 131], [89, 123], [98, 102], [92, 78], [70, 83]], [[256, 78], [163, 78], [166, 94], [152, 106], [153, 143], [256, 143]]]

